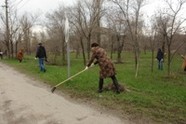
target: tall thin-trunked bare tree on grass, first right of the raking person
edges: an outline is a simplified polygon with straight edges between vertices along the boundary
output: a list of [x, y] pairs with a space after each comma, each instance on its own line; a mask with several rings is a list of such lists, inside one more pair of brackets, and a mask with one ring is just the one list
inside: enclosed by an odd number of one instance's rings
[[134, 57], [135, 57], [135, 77], [138, 75], [140, 62], [140, 33], [142, 29], [142, 21], [140, 20], [140, 10], [145, 0], [111, 0], [122, 11], [123, 16], [127, 22], [128, 35], [133, 43]]

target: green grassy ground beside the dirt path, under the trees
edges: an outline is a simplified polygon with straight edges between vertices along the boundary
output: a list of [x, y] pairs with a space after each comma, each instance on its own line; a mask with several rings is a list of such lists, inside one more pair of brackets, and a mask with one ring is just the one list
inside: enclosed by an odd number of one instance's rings
[[[171, 77], [167, 77], [166, 61], [164, 70], [154, 67], [150, 70], [150, 54], [143, 54], [140, 61], [140, 70], [137, 78], [134, 77], [133, 57], [124, 54], [127, 61], [117, 64], [117, 78], [119, 83], [127, 87], [130, 92], [119, 95], [112, 91], [103, 92], [101, 97], [96, 92], [98, 87], [99, 67], [93, 67], [85, 73], [73, 78], [58, 89], [72, 97], [96, 102], [101, 106], [117, 111], [121, 116], [126, 114], [131, 118], [148, 117], [157, 123], [186, 123], [186, 73], [181, 69], [182, 60], [175, 57], [172, 62]], [[39, 72], [38, 63], [33, 57], [25, 57], [22, 63], [14, 59], [4, 59], [2, 62], [16, 67], [20, 71], [44, 80], [49, 85], [56, 85], [67, 78], [66, 66], [46, 65], [47, 72]], [[71, 75], [84, 69], [81, 58], [71, 57]], [[110, 83], [104, 81], [104, 85]], [[122, 114], [123, 113], [123, 114]]]

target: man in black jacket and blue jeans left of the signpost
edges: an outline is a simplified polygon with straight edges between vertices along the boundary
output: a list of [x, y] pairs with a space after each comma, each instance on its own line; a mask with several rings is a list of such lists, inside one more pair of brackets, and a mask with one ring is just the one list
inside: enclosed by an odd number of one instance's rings
[[47, 56], [46, 56], [45, 47], [42, 46], [42, 43], [38, 44], [35, 57], [38, 58], [38, 60], [39, 60], [40, 71], [46, 72], [44, 61], [47, 61]]

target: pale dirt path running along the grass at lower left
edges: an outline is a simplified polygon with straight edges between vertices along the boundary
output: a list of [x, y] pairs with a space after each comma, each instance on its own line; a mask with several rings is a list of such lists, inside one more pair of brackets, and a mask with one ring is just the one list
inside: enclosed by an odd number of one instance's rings
[[0, 124], [129, 124], [38, 84], [0, 63]]

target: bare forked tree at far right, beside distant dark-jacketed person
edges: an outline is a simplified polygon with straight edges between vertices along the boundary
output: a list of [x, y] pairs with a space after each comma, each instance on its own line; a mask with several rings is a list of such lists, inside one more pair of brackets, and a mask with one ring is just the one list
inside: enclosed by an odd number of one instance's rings
[[168, 65], [168, 76], [170, 75], [171, 61], [176, 53], [176, 51], [181, 47], [178, 46], [176, 50], [171, 54], [171, 46], [175, 42], [175, 36], [180, 33], [182, 24], [186, 21], [180, 17], [180, 13], [183, 9], [183, 5], [186, 3], [186, 0], [164, 0], [167, 5], [167, 9], [160, 11], [160, 15], [157, 18], [157, 25], [159, 32], [163, 34], [164, 44], [167, 46], [167, 65]]

